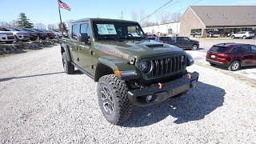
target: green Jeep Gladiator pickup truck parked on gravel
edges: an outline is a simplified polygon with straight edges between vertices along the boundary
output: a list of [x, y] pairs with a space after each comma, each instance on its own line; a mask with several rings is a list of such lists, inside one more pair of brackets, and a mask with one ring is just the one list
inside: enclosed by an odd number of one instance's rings
[[[132, 107], [180, 95], [198, 82], [189, 73], [190, 54], [177, 46], [150, 42], [138, 22], [87, 18], [71, 22], [61, 41], [66, 74], [74, 67], [98, 82], [98, 104], [107, 121], [121, 124]], [[90, 95], [87, 95], [88, 97]]]

